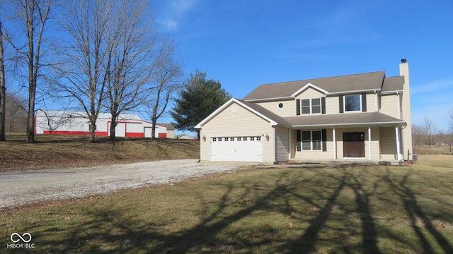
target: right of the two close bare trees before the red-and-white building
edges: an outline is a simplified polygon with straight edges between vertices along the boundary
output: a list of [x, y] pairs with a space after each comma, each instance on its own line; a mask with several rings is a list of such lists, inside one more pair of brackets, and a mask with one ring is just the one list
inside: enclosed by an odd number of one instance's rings
[[147, 17], [146, 1], [116, 1], [117, 12], [113, 20], [113, 59], [108, 79], [108, 97], [105, 107], [110, 111], [110, 140], [115, 140], [118, 116], [137, 108], [153, 90], [150, 76], [160, 65], [156, 51], [152, 23]]

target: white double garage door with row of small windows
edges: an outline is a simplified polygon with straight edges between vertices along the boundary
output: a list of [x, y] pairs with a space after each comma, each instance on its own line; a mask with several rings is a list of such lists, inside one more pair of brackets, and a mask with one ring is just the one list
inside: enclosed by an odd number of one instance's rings
[[211, 138], [211, 161], [262, 162], [261, 136]]

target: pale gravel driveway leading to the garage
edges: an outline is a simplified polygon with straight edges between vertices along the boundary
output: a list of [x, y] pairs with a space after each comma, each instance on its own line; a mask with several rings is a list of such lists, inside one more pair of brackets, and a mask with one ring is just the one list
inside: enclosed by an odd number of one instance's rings
[[197, 159], [139, 162], [62, 170], [0, 173], [0, 209], [12, 205], [76, 198], [147, 184], [173, 183], [238, 169], [234, 165], [197, 163]]

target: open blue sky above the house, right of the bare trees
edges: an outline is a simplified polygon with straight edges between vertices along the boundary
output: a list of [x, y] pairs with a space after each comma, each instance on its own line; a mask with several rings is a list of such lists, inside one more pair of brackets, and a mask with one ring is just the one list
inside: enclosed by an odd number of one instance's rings
[[154, 1], [185, 75], [195, 69], [236, 98], [255, 87], [372, 71], [408, 59], [412, 121], [447, 131], [453, 110], [453, 1]]

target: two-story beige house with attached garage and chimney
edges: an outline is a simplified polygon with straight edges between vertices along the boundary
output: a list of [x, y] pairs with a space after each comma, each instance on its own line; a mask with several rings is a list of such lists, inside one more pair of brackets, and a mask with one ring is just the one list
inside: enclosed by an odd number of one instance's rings
[[384, 71], [260, 85], [195, 126], [200, 159], [215, 162], [411, 159], [406, 59]]

